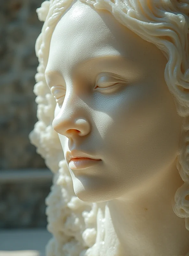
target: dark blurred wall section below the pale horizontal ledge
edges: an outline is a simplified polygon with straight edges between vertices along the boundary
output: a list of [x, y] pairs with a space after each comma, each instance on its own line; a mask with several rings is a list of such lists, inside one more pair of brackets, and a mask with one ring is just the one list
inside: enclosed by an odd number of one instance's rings
[[51, 182], [0, 186], [0, 228], [46, 227], [45, 198]]

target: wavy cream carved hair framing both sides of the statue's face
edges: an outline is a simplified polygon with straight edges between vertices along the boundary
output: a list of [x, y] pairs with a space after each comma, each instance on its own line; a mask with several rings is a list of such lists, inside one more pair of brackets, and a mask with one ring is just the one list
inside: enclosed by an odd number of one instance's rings
[[[155, 44], [168, 60], [165, 81], [174, 95], [178, 114], [183, 117], [177, 168], [184, 184], [176, 192], [173, 210], [185, 218], [189, 230], [189, 0], [82, 1], [111, 12], [121, 24]], [[65, 160], [62, 160], [64, 156], [59, 138], [52, 128], [56, 101], [44, 76], [52, 33], [72, 3], [73, 0], [49, 0], [37, 9], [39, 19], [44, 21], [35, 48], [40, 63], [34, 86], [39, 121], [30, 139], [54, 172], [53, 186], [46, 200], [48, 229], [54, 236], [49, 241], [47, 256], [85, 255], [96, 238], [98, 207], [96, 203], [81, 201], [73, 192], [71, 176]]]

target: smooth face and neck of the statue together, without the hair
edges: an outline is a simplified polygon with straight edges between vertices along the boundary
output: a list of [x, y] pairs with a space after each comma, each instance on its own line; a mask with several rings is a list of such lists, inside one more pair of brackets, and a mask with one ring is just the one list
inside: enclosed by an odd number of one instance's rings
[[184, 182], [176, 168], [181, 118], [166, 63], [154, 44], [80, 1], [54, 29], [45, 70], [57, 102], [52, 126], [76, 196], [100, 206], [87, 256], [189, 250], [185, 220], [172, 209]]

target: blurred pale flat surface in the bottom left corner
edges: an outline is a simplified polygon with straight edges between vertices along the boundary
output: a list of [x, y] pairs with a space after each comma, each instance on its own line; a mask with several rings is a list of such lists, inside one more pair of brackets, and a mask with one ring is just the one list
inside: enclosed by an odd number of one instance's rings
[[45, 256], [51, 234], [45, 229], [0, 231], [0, 256]]

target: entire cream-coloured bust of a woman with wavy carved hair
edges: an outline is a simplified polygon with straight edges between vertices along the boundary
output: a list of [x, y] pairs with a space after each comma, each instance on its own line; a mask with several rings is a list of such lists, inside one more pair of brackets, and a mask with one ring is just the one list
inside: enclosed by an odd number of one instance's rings
[[187, 255], [189, 1], [37, 12], [30, 139], [54, 172], [47, 256]]

